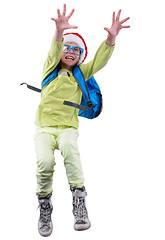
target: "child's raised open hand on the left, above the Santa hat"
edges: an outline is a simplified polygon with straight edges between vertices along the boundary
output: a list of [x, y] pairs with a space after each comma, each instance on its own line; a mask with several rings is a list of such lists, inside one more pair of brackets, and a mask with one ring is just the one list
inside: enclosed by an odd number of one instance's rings
[[62, 14], [60, 13], [60, 9], [57, 9], [58, 18], [51, 18], [56, 23], [57, 31], [64, 31], [66, 29], [78, 28], [75, 25], [70, 25], [68, 22], [70, 17], [73, 15], [73, 13], [74, 13], [74, 9], [72, 9], [70, 14], [68, 16], [66, 16], [66, 4], [64, 4]]

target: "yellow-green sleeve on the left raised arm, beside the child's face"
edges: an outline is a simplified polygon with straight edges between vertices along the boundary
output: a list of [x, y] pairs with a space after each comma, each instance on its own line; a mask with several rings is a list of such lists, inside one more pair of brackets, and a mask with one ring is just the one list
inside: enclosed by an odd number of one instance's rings
[[57, 42], [53, 38], [52, 40], [52, 45], [49, 50], [47, 59], [44, 63], [43, 67], [43, 74], [42, 74], [42, 81], [49, 76], [49, 74], [56, 68], [56, 66], [59, 64], [61, 60], [61, 55], [63, 51], [63, 41], [62, 42]]

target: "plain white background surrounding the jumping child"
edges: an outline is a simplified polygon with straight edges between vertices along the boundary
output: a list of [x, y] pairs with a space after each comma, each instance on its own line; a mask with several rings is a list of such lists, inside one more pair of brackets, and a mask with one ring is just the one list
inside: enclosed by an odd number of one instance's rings
[[55, 152], [53, 223], [49, 239], [165, 239], [165, 34], [161, 0], [6, 0], [0, 4], [0, 229], [3, 240], [43, 239], [37, 230], [34, 118], [56, 9], [67, 4], [92, 59], [112, 12], [130, 16], [108, 65], [95, 75], [104, 108], [80, 119], [81, 152], [91, 229], [73, 229], [72, 196]]

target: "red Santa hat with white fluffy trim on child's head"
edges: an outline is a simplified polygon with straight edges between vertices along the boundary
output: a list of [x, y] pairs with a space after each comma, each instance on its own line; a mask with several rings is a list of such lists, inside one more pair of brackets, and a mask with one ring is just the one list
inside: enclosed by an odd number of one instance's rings
[[66, 34], [64, 34], [63, 37], [64, 37], [64, 44], [66, 44], [68, 42], [74, 42], [79, 47], [84, 49], [83, 53], [80, 55], [80, 60], [78, 62], [78, 65], [81, 64], [82, 62], [84, 62], [85, 58], [87, 57], [88, 51], [87, 51], [87, 46], [86, 46], [86, 43], [85, 43], [83, 37], [78, 33], [66, 33]]

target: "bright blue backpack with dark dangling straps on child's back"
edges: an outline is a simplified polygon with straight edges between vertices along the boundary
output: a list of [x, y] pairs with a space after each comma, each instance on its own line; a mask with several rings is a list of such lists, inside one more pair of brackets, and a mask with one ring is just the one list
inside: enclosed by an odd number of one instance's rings
[[[28, 85], [27, 83], [21, 83], [21, 85], [26, 84], [29, 89], [36, 92], [41, 92], [45, 86], [47, 86], [58, 76], [58, 71], [58, 67], [56, 67], [53, 72], [50, 73], [50, 75], [43, 80], [41, 84], [41, 89]], [[83, 73], [79, 66], [76, 66], [73, 69], [73, 75], [82, 91], [81, 104], [79, 105], [77, 103], [69, 102], [67, 100], [65, 100], [63, 104], [69, 107], [78, 108], [78, 116], [80, 117], [85, 117], [88, 119], [98, 117], [102, 111], [102, 94], [94, 76], [85, 81]]]

